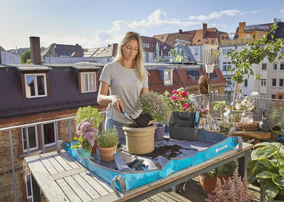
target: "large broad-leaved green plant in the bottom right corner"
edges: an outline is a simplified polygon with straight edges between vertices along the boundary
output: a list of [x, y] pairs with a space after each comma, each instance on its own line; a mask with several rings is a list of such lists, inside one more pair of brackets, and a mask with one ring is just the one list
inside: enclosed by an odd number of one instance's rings
[[[256, 149], [257, 148], [257, 149]], [[254, 145], [249, 161], [249, 182], [260, 182], [264, 199], [284, 199], [284, 146], [279, 142]]]

